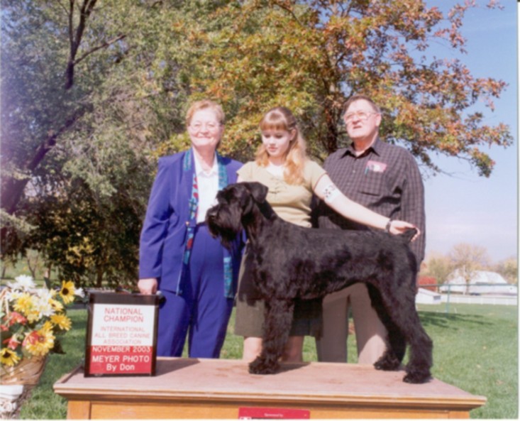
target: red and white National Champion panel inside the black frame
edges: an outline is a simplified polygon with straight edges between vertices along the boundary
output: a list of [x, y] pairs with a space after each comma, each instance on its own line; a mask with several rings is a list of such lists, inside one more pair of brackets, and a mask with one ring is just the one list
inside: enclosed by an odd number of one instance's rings
[[153, 365], [154, 305], [94, 305], [89, 373], [149, 374]]

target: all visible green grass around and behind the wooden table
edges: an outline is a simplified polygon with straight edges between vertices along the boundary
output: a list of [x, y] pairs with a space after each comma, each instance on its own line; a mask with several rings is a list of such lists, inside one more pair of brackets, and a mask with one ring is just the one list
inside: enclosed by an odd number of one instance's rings
[[[446, 315], [442, 305], [419, 305], [424, 328], [433, 339], [433, 376], [474, 395], [487, 403], [470, 413], [472, 418], [517, 419], [518, 411], [518, 313], [517, 307], [500, 305], [450, 305]], [[63, 419], [67, 403], [52, 391], [52, 385], [72, 371], [84, 356], [85, 310], [68, 312], [73, 329], [63, 339], [66, 355], [48, 359], [40, 384], [23, 405], [21, 418]], [[221, 357], [240, 359], [242, 338], [233, 334], [234, 319]], [[349, 361], [355, 363], [355, 341], [349, 341]], [[314, 340], [306, 338], [305, 361], [316, 361]]]

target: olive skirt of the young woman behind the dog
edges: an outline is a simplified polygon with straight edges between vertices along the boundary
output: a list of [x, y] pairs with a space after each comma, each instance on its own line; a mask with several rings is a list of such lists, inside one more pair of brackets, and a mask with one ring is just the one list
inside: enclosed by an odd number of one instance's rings
[[[250, 268], [251, 258], [246, 248], [238, 275], [235, 334], [242, 337], [262, 337], [265, 305], [260, 299], [260, 292], [253, 285]], [[321, 298], [297, 300], [294, 303], [293, 316], [289, 336], [321, 337]]]

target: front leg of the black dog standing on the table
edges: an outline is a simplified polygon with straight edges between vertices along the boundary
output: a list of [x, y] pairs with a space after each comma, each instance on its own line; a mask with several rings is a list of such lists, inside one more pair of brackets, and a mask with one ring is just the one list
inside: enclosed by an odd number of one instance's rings
[[249, 364], [253, 374], [276, 373], [284, 346], [289, 339], [292, 324], [294, 301], [269, 299], [265, 302], [264, 335], [262, 352]]

